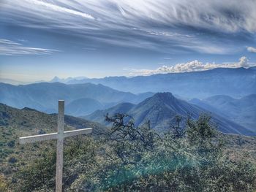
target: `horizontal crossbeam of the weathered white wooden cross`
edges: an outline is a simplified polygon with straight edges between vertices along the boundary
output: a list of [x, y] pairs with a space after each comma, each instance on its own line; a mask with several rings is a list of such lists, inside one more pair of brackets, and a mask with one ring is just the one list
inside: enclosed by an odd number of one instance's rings
[[59, 137], [72, 137], [80, 134], [90, 134], [92, 131], [92, 128], [82, 128], [78, 130], [72, 130], [72, 131], [64, 131], [63, 136], [58, 133], [52, 133], [52, 134], [39, 134], [29, 137], [20, 137], [20, 144], [26, 144], [26, 143], [33, 143], [33, 142], [42, 142], [47, 140], [53, 140], [53, 139], [59, 139]]

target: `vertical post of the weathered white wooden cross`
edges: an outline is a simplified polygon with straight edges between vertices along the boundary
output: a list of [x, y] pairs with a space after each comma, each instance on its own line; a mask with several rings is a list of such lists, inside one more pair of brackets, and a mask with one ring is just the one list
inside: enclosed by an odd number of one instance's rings
[[64, 100], [59, 100], [58, 139], [56, 154], [56, 192], [62, 191], [63, 172], [63, 145], [64, 145]]

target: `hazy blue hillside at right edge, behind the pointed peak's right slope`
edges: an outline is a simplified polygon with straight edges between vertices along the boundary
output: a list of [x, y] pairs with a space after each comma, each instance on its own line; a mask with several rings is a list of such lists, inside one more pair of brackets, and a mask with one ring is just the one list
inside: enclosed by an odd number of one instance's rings
[[255, 130], [256, 124], [256, 94], [235, 99], [230, 96], [211, 96], [206, 99], [193, 99], [192, 104], [202, 107], [211, 112], [222, 114], [225, 118]]

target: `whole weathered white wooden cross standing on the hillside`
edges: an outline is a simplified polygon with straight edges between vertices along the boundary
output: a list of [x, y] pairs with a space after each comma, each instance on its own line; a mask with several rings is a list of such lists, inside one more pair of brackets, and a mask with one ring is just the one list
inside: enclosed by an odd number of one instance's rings
[[56, 158], [56, 192], [62, 191], [62, 172], [63, 172], [63, 143], [64, 138], [80, 134], [90, 134], [92, 128], [83, 128], [74, 131], [64, 131], [64, 100], [59, 100], [58, 114], [58, 133], [40, 134], [29, 137], [20, 137], [20, 144], [41, 142], [57, 139], [57, 158]]

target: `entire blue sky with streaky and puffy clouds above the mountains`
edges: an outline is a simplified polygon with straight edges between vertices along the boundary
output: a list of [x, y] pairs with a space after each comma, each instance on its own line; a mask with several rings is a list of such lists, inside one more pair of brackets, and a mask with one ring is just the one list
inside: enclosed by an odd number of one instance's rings
[[256, 0], [0, 0], [0, 79], [256, 65]]

